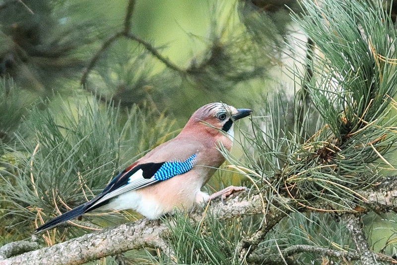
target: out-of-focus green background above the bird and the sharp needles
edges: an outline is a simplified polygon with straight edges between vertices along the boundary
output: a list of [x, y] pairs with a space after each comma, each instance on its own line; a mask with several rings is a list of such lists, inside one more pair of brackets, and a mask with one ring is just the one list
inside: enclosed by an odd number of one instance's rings
[[[75, 97], [86, 95], [85, 90], [127, 107], [150, 101], [184, 118], [177, 120], [179, 126], [208, 102], [252, 107], [268, 89], [272, 66], [282, 67], [283, 36], [290, 27], [284, 4], [297, 6], [293, 1], [255, 4], [136, 1], [130, 33], [182, 71], [176, 72], [131, 38], [116, 38], [101, 49], [123, 29], [128, 1], [3, 1], [0, 74], [13, 78], [19, 87], [16, 97], [29, 99], [23, 107], [40, 98], [52, 99], [52, 105], [59, 94]], [[276, 70], [273, 79], [279, 80], [279, 74]]]

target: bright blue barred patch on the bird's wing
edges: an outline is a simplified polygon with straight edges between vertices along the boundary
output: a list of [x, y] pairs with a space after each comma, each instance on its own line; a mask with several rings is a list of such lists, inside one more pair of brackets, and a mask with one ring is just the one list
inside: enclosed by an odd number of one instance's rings
[[168, 180], [169, 178], [188, 172], [193, 168], [196, 154], [191, 155], [188, 159], [183, 162], [165, 162], [156, 173], [154, 173], [154, 179], [158, 181]]

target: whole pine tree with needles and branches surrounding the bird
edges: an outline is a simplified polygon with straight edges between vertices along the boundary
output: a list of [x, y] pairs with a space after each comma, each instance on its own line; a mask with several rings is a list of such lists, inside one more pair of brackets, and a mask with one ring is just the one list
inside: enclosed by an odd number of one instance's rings
[[[396, 263], [390, 2], [217, 1], [205, 49], [185, 64], [135, 34], [134, 0], [113, 27], [79, 20], [86, 9], [67, 0], [0, 4], [0, 264]], [[293, 87], [257, 91], [272, 65]], [[207, 188], [247, 192], [158, 221], [96, 212], [31, 237], [174, 136], [192, 98], [233, 101], [236, 90], [255, 95], [255, 114]]]

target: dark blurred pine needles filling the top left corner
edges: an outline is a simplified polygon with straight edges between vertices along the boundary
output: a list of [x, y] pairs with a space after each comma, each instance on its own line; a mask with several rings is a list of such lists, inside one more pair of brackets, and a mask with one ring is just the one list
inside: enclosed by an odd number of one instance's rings
[[103, 18], [76, 12], [90, 8], [89, 1], [2, 1], [0, 76], [13, 77], [36, 97], [61, 90], [85, 66], [88, 47], [101, 38]]

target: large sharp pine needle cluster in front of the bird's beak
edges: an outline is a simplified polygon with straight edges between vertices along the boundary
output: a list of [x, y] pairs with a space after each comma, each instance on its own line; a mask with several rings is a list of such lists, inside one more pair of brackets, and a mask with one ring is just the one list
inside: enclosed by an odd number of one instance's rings
[[372, 1], [302, 4], [303, 16], [293, 18], [318, 49], [306, 62], [310, 80], [305, 69], [290, 69], [311, 99], [303, 123], [275, 97], [259, 113], [266, 119], [243, 133], [246, 162], [229, 158], [264, 185], [270, 201], [283, 205], [283, 195], [300, 206], [352, 209], [353, 198], [363, 200], [357, 191], [370, 187], [380, 168], [393, 168], [384, 156], [397, 139], [397, 31]]

